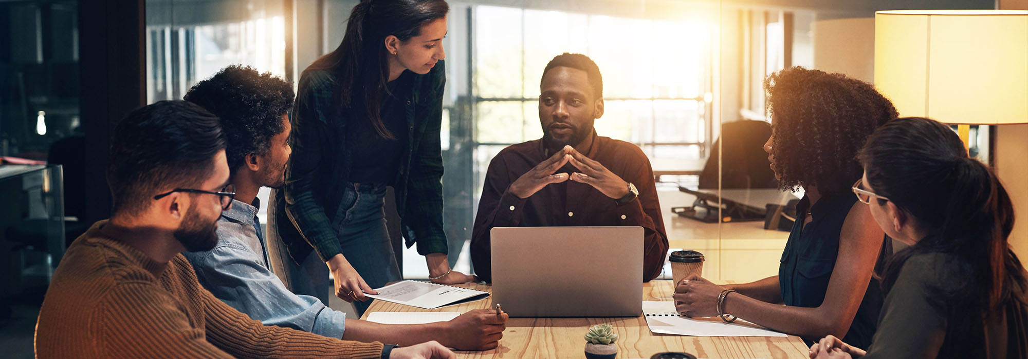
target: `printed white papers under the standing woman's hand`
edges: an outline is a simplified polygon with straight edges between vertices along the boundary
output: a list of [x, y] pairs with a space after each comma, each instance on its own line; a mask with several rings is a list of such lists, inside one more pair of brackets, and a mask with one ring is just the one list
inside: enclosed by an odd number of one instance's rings
[[489, 296], [489, 293], [481, 290], [413, 280], [405, 280], [381, 288], [375, 288], [375, 291], [378, 294], [365, 295], [379, 301], [423, 309], [436, 309], [458, 305], [484, 300]]

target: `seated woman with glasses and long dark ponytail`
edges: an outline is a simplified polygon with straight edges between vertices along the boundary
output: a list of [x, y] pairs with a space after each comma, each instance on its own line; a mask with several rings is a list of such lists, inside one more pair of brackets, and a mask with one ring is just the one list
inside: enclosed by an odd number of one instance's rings
[[1011, 250], [1011, 199], [956, 133], [925, 118], [880, 128], [860, 151], [860, 202], [910, 247], [882, 275], [888, 295], [865, 352], [825, 336], [811, 358], [1028, 357], [1028, 282]]

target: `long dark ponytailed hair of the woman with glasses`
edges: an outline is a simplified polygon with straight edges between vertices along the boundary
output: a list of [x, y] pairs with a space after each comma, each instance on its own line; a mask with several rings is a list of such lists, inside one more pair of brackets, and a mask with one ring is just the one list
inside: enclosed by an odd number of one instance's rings
[[868, 185], [926, 231], [886, 266], [886, 290], [912, 255], [942, 252], [957, 258], [940, 270], [954, 271], [958, 282], [935, 294], [958, 309], [956, 318], [980, 321], [1008, 301], [1024, 301], [1024, 268], [1006, 238], [1014, 228], [1011, 198], [988, 166], [967, 157], [953, 130], [926, 118], [900, 118], [868, 138], [859, 160]]

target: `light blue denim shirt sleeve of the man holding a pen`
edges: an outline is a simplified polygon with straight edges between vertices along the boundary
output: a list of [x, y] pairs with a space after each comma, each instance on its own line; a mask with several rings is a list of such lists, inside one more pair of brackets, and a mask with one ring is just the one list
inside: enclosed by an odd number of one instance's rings
[[213, 250], [187, 253], [200, 284], [218, 300], [259, 320], [316, 334], [341, 338], [346, 315], [318, 298], [297, 295], [243, 244], [219, 244]]

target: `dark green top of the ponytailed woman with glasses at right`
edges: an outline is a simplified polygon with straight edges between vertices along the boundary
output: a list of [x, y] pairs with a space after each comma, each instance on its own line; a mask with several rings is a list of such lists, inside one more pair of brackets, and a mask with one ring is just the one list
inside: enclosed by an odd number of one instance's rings
[[[935, 294], [956, 288], [960, 261], [944, 253], [912, 255], [885, 297], [874, 343], [865, 359], [879, 358], [1025, 358], [1028, 311], [1009, 301], [1002, 313], [967, 327], [949, 325], [953, 308]], [[1024, 288], [1015, 289], [1024, 301]], [[984, 294], [984, 293], [983, 293]], [[961, 332], [962, 331], [962, 332]]]

